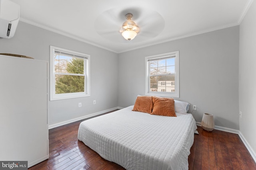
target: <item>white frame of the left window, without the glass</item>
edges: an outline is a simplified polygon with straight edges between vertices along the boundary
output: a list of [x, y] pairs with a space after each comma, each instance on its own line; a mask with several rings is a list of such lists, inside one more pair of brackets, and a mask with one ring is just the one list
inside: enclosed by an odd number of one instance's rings
[[[63, 52], [69, 55], [74, 55], [74, 57], [83, 58], [84, 59], [84, 92], [75, 92], [75, 93], [64, 93], [64, 94], [55, 94], [55, 75], [54, 72], [54, 54], [55, 51]], [[67, 49], [63, 49], [60, 47], [54, 47], [50, 45], [50, 100], [63, 100], [63, 99], [71, 99], [71, 98], [80, 98], [90, 96], [90, 55], [79, 53], [76, 51], [71, 51]]]

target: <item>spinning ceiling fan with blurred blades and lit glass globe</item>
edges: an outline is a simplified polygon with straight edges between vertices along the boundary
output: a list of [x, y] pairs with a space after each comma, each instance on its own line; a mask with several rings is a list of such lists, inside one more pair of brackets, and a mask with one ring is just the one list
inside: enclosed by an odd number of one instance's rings
[[156, 37], [164, 29], [164, 24], [163, 17], [153, 10], [112, 8], [96, 18], [94, 27], [100, 36], [110, 41], [135, 43]]

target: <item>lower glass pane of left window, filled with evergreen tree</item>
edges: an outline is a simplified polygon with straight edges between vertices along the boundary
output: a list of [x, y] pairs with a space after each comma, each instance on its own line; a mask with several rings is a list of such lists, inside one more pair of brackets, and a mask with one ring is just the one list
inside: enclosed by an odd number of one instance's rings
[[55, 94], [84, 92], [84, 76], [56, 75]]

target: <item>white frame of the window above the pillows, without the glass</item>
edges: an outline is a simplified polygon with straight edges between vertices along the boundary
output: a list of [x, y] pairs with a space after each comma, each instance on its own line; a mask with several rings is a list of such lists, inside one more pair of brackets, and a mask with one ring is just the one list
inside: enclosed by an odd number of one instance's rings
[[[174, 92], [151, 92], [150, 91], [150, 59], [160, 59], [162, 57], [169, 57], [175, 55], [175, 91]], [[179, 98], [179, 51], [173, 51], [170, 53], [164, 53], [159, 55], [152, 55], [145, 57], [145, 68], [146, 68], [146, 75], [145, 75], [145, 94], [149, 96], [161, 96], [161, 97], [170, 97], [170, 98]]]

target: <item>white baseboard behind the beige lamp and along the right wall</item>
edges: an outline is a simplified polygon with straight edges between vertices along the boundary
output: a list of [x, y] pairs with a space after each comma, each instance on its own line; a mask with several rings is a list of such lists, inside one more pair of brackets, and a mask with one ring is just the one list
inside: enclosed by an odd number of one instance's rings
[[[201, 126], [201, 123], [196, 122], [196, 125]], [[244, 143], [245, 147], [247, 148], [247, 150], [251, 154], [252, 158], [254, 159], [254, 162], [256, 162], [256, 153], [255, 153], [255, 151], [252, 149], [251, 145], [248, 143], [248, 141], [245, 139], [244, 135], [239, 130], [230, 129], [230, 128], [227, 128], [227, 127], [221, 127], [221, 126], [215, 126], [214, 129], [229, 132], [229, 133], [238, 134], [240, 139]]]

